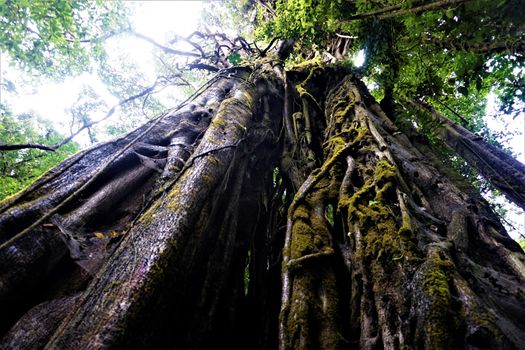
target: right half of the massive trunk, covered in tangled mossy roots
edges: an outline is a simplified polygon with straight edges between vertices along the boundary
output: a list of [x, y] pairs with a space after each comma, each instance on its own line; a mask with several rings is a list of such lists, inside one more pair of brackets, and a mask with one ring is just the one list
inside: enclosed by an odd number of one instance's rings
[[280, 348], [519, 348], [524, 255], [488, 204], [362, 83], [325, 91], [323, 161], [288, 211]]

